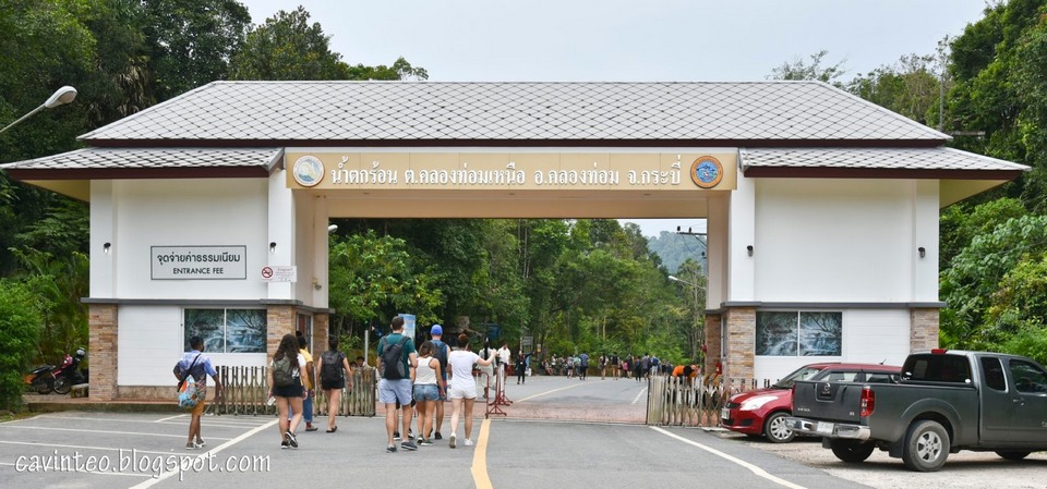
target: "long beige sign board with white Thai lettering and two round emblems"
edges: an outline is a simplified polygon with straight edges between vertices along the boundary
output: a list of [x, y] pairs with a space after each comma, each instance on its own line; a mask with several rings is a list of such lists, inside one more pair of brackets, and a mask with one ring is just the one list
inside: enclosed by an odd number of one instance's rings
[[289, 188], [725, 191], [737, 152], [289, 151]]

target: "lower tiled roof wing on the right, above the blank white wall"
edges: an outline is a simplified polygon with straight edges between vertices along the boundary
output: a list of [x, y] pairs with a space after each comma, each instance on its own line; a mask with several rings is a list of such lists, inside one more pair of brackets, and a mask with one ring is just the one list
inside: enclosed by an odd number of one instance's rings
[[1028, 167], [952, 148], [751, 148], [741, 152], [750, 168], [1025, 171]]

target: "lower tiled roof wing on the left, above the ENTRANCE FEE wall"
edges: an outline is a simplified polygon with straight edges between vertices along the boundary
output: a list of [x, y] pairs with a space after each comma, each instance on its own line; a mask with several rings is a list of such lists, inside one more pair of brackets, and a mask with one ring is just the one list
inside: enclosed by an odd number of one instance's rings
[[5, 170], [242, 168], [268, 169], [282, 148], [85, 148], [16, 163]]

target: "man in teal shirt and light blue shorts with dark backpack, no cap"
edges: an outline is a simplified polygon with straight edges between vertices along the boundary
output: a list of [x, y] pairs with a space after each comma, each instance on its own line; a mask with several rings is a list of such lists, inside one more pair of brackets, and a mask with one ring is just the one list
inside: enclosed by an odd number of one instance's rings
[[[396, 444], [393, 443], [393, 432], [396, 431], [396, 404], [399, 403], [402, 409], [401, 421], [404, 432], [409, 432], [413, 411], [411, 409], [411, 368], [418, 366], [418, 353], [414, 350], [414, 341], [404, 334], [404, 318], [397, 316], [393, 318], [389, 325], [393, 330], [378, 341], [378, 372], [382, 376], [378, 379], [378, 402], [385, 404], [385, 431], [388, 436], [388, 443], [385, 451], [396, 452]], [[400, 443], [404, 450], [418, 450], [414, 440], [408, 437], [404, 443]]]

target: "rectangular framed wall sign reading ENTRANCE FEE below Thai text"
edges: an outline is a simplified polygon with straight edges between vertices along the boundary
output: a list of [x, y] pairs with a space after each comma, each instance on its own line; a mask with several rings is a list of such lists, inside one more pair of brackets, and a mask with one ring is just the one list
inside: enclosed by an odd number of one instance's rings
[[246, 280], [246, 246], [151, 246], [153, 280]]

